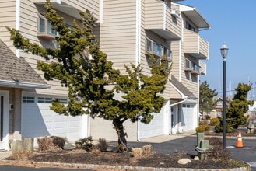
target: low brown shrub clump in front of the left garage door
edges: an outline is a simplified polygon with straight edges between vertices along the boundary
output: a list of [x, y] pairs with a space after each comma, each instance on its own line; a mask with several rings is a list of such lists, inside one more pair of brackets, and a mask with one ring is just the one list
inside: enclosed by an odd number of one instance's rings
[[38, 148], [41, 152], [63, 149], [67, 138], [51, 136], [37, 138]]

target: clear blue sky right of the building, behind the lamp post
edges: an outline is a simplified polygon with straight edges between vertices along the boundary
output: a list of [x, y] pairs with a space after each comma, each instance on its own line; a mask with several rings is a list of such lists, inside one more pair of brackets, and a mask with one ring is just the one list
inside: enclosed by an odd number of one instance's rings
[[[251, 91], [256, 94], [256, 1], [255, 0], [185, 0], [179, 2], [196, 7], [210, 23], [211, 29], [200, 35], [210, 44], [207, 81], [219, 95], [223, 91], [223, 58], [220, 47], [225, 42], [229, 47], [226, 58], [226, 90], [234, 90], [238, 83], [253, 83]], [[230, 92], [226, 92], [230, 95]]]

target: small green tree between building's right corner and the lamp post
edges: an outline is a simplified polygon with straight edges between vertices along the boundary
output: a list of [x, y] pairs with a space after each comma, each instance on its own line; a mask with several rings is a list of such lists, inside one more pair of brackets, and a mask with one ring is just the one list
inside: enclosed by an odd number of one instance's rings
[[202, 82], [199, 89], [199, 110], [206, 110], [207, 113], [209, 113], [209, 111], [216, 106], [213, 97], [217, 96], [218, 93], [216, 92], [216, 89], [210, 89], [209, 84], [206, 81]]

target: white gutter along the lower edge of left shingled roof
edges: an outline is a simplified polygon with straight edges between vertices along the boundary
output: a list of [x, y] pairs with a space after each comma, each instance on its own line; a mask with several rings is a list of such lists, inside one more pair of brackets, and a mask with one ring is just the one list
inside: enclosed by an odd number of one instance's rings
[[11, 86], [16, 88], [30, 88], [30, 89], [50, 89], [51, 85], [47, 84], [37, 84], [30, 82], [13, 82], [0, 80], [0, 86]]

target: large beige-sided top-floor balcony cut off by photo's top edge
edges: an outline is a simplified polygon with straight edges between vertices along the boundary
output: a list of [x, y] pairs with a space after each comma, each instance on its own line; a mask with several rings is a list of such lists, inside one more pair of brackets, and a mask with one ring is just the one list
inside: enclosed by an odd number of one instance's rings
[[166, 2], [148, 0], [145, 8], [145, 28], [151, 30], [166, 40], [181, 39], [181, 21], [175, 20], [172, 10]]

